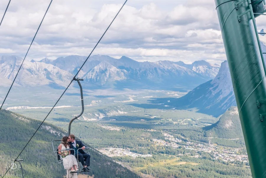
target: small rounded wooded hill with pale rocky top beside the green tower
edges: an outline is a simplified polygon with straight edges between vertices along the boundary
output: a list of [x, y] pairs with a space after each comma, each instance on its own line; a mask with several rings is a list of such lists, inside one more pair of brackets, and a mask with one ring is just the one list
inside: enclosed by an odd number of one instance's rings
[[244, 137], [237, 107], [229, 108], [219, 121], [203, 128], [213, 143], [224, 146], [244, 146]]

